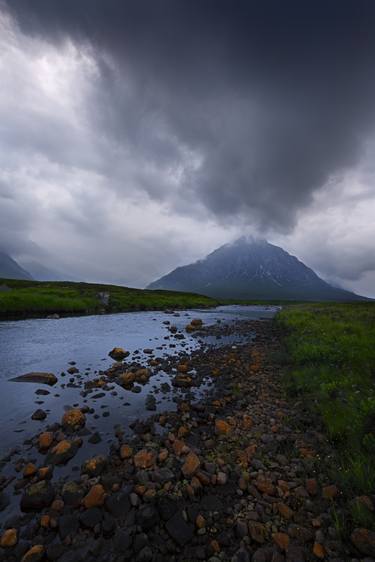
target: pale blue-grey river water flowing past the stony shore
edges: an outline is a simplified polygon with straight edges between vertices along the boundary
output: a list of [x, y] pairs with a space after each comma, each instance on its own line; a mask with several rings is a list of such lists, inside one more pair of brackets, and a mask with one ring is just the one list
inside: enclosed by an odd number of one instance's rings
[[[0, 454], [20, 445], [47, 424], [59, 421], [67, 407], [84, 406], [85, 403], [94, 405], [97, 412], [93, 419], [90, 418], [88, 429], [99, 431], [105, 443], [106, 438], [113, 436], [114, 426], [125, 421], [128, 424], [132, 419], [145, 415], [145, 398], [150, 391], [158, 393], [163, 382], [170, 382], [169, 375], [159, 372], [151, 377], [140, 394], [117, 387], [112, 394], [107, 393], [96, 400], [85, 400], [81, 395], [82, 384], [70, 386], [71, 377], [61, 374], [66, 373], [69, 362], [76, 362], [79, 377], [85, 380], [94, 378], [100, 370], [111, 365], [108, 352], [113, 347], [123, 347], [131, 353], [140, 350], [137, 359], [146, 362], [149, 356], [143, 353], [145, 348], [152, 348], [154, 355], [161, 357], [182, 350], [191, 351], [201, 345], [202, 342], [196, 337], [186, 333], [183, 340], [172, 338], [165, 324], [168, 320], [183, 330], [192, 318], [202, 318], [204, 324], [209, 325], [230, 323], [240, 318], [271, 318], [276, 310], [272, 307], [226, 306], [174, 314], [137, 312], [0, 322]], [[222, 345], [237, 342], [225, 337], [215, 341], [211, 337], [205, 343]], [[52, 372], [59, 382], [48, 387], [9, 380], [31, 371]], [[48, 390], [49, 394], [36, 394], [41, 388]], [[204, 391], [203, 385], [199, 392]], [[172, 396], [168, 393], [158, 394], [158, 409], [167, 407], [173, 408]], [[44, 422], [31, 420], [37, 408], [47, 412]]]

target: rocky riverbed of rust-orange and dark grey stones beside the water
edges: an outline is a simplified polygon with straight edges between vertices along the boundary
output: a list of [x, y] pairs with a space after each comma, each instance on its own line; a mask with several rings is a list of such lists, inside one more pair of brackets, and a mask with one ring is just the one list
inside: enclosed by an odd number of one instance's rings
[[[188, 331], [228, 344], [163, 358], [144, 349], [146, 365], [112, 350], [118, 361], [88, 381], [71, 365], [86, 405], [3, 459], [1, 560], [371, 560], [371, 536], [340, 540], [340, 490], [322, 460], [332, 451], [304, 404], [284, 397], [274, 323]], [[137, 393], [158, 373], [169, 382], [147, 396], [149, 415], [119, 425], [103, 451], [87, 430], [90, 402]], [[175, 391], [165, 411], [163, 384]]]

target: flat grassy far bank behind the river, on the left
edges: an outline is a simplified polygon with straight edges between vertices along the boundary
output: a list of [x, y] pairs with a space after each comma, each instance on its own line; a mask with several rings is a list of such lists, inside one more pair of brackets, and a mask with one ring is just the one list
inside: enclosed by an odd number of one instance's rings
[[[204, 308], [218, 304], [214, 299], [194, 293], [149, 291], [116, 285], [0, 279], [0, 287], [2, 285], [10, 290], [0, 291], [0, 319]], [[109, 295], [107, 304], [103, 304], [99, 293]]]

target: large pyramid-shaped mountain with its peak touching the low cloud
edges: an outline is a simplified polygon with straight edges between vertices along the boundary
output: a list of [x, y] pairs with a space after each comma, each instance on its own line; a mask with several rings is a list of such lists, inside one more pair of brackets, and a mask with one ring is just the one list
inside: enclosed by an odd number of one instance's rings
[[221, 246], [202, 260], [178, 267], [147, 288], [190, 291], [217, 298], [365, 300], [332, 287], [282, 248], [247, 237]]

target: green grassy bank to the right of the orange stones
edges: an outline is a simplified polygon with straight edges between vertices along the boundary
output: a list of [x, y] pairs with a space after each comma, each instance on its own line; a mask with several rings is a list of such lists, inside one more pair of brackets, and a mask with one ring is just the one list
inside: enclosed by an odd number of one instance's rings
[[276, 320], [285, 338], [287, 390], [323, 419], [337, 456], [332, 476], [344, 493], [344, 527], [375, 529], [354, 498], [375, 490], [375, 303], [289, 306]]

